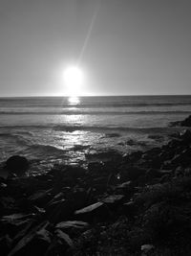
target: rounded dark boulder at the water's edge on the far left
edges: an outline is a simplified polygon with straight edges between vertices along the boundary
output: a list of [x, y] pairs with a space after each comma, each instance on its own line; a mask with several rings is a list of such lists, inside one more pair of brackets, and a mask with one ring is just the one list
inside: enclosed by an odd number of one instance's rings
[[5, 168], [16, 175], [24, 175], [29, 169], [29, 161], [26, 157], [13, 155], [6, 161]]

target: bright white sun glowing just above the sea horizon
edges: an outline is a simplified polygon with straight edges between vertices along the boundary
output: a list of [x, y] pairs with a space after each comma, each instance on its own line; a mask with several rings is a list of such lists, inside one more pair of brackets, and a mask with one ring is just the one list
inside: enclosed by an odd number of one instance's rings
[[64, 70], [64, 81], [69, 96], [80, 95], [84, 76], [82, 70], [78, 66], [69, 66]]

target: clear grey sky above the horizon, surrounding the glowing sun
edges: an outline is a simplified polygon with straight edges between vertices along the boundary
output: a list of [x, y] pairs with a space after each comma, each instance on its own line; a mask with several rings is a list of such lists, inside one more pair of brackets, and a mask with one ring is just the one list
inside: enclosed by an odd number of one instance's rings
[[0, 0], [0, 96], [191, 94], [190, 0]]

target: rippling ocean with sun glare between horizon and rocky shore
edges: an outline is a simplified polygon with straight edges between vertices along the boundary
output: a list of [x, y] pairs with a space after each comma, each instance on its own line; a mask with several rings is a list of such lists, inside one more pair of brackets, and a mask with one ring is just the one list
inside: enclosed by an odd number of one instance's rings
[[0, 161], [24, 155], [38, 173], [105, 151], [147, 150], [189, 114], [191, 96], [0, 98]]

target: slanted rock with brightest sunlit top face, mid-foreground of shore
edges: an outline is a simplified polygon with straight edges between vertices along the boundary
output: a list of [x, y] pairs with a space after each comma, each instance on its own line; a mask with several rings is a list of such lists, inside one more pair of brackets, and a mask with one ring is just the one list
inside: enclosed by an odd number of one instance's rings
[[107, 206], [100, 201], [74, 212], [74, 216], [78, 220], [87, 222], [95, 220], [106, 220], [108, 215], [109, 212]]

